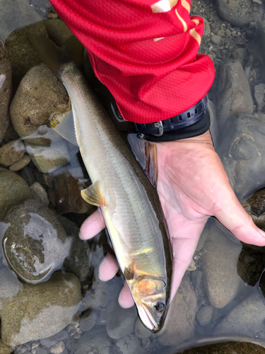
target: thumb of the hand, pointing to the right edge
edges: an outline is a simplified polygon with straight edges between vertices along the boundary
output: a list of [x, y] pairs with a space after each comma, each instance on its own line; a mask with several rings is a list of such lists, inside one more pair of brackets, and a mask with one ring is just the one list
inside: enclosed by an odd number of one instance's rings
[[220, 190], [214, 216], [245, 244], [265, 246], [265, 232], [257, 227], [240, 204], [229, 182]]

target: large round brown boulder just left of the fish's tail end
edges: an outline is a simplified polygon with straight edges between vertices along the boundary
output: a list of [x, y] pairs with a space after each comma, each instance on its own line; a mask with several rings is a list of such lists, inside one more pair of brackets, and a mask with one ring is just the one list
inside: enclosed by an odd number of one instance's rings
[[[28, 143], [50, 144], [54, 140], [43, 137], [42, 132], [37, 137], [29, 136], [40, 126], [47, 125], [52, 113], [66, 112], [68, 105], [69, 97], [61, 81], [45, 64], [37, 65], [25, 74], [11, 103], [13, 127]], [[52, 133], [51, 129], [50, 132]]]

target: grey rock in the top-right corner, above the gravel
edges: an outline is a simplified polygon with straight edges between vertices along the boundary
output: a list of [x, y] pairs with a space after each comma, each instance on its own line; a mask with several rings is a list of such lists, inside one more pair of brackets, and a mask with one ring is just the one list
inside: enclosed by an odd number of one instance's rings
[[244, 27], [251, 21], [261, 20], [263, 11], [254, 11], [252, 0], [218, 0], [218, 13], [231, 25]]

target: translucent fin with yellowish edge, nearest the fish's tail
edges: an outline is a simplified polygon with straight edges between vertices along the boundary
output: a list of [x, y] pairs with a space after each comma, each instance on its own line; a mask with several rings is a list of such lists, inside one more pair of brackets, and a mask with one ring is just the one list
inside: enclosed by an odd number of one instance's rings
[[73, 121], [73, 110], [71, 107], [69, 107], [69, 111], [64, 114], [54, 114], [50, 125], [55, 132], [64, 137], [64, 139], [71, 142], [71, 144], [78, 146], [76, 128]]

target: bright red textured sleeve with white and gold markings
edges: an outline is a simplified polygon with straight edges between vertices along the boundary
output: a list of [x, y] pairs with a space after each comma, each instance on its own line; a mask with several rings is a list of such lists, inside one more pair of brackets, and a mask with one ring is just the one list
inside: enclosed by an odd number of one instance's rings
[[88, 50], [125, 120], [157, 122], [203, 98], [213, 62], [198, 55], [204, 21], [190, 0], [50, 0]]

